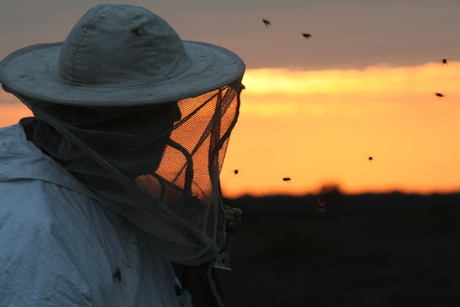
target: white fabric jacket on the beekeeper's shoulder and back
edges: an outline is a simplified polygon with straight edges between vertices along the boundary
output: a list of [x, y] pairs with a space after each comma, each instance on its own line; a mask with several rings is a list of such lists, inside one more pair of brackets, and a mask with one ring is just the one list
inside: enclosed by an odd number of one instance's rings
[[0, 306], [191, 306], [170, 262], [25, 138], [0, 129]]

